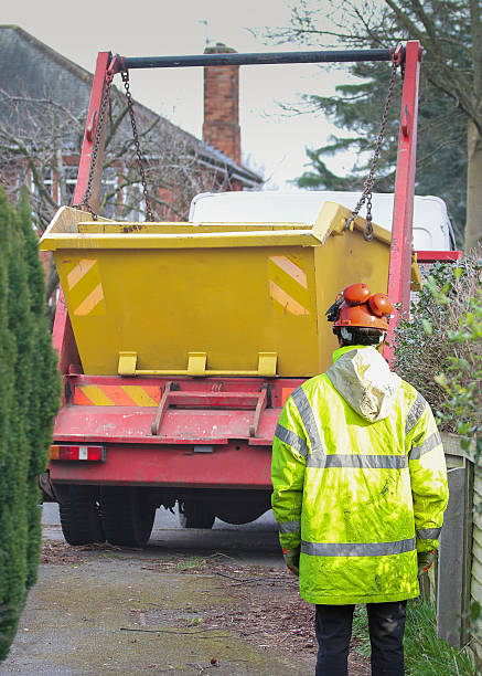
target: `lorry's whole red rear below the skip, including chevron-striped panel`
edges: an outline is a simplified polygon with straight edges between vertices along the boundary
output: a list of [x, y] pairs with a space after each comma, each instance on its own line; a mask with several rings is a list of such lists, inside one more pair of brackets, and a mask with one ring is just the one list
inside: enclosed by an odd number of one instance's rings
[[[55, 486], [270, 490], [271, 444], [301, 379], [120, 378], [72, 373], [53, 440], [105, 458], [55, 460]], [[165, 399], [168, 397], [168, 399]], [[58, 448], [57, 448], [58, 451]]]

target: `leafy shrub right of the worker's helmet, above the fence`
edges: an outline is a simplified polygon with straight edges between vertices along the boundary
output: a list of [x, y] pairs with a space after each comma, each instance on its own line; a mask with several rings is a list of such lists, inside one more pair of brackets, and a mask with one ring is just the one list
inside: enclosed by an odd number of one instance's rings
[[[399, 323], [395, 368], [427, 399], [442, 431], [482, 443], [482, 251], [436, 263]], [[478, 448], [478, 455], [482, 448]]]

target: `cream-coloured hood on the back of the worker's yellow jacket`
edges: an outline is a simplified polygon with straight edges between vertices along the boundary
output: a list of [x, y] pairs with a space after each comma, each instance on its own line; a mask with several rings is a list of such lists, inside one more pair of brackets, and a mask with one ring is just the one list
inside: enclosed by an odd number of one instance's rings
[[335, 350], [333, 361], [326, 376], [351, 408], [369, 422], [387, 418], [401, 381], [382, 355], [369, 346], [350, 346]]

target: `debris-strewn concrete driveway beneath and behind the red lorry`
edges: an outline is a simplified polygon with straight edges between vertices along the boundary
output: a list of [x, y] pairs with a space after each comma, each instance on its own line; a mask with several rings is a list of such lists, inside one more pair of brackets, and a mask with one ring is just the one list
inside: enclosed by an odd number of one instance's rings
[[[250, 584], [253, 575], [268, 575], [275, 585], [286, 574], [272, 515], [257, 525], [185, 530], [178, 528], [176, 517], [159, 511], [144, 550], [89, 549], [64, 546], [56, 506], [45, 506], [44, 546], [65, 550], [64, 558], [41, 564], [1, 676], [301, 676], [314, 670], [313, 654], [300, 663], [264, 638], [263, 622], [255, 642], [249, 641], [249, 625], [237, 610], [247, 603], [251, 610], [256, 589], [266, 591]], [[234, 566], [245, 572], [217, 574], [210, 570], [210, 557], [213, 566], [227, 561], [231, 571]], [[239, 585], [234, 575], [247, 575], [247, 582], [242, 578], [246, 583]], [[247, 593], [255, 596], [248, 601]], [[227, 612], [237, 613], [233, 629]], [[223, 624], [211, 620], [206, 625], [216, 613]]]

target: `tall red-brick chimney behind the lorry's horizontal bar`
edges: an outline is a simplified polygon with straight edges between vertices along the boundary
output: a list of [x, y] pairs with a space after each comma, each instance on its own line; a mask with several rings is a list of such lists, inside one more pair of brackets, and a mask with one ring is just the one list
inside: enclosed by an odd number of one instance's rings
[[[217, 42], [204, 53], [234, 51]], [[204, 67], [203, 140], [240, 165], [239, 66]]]

